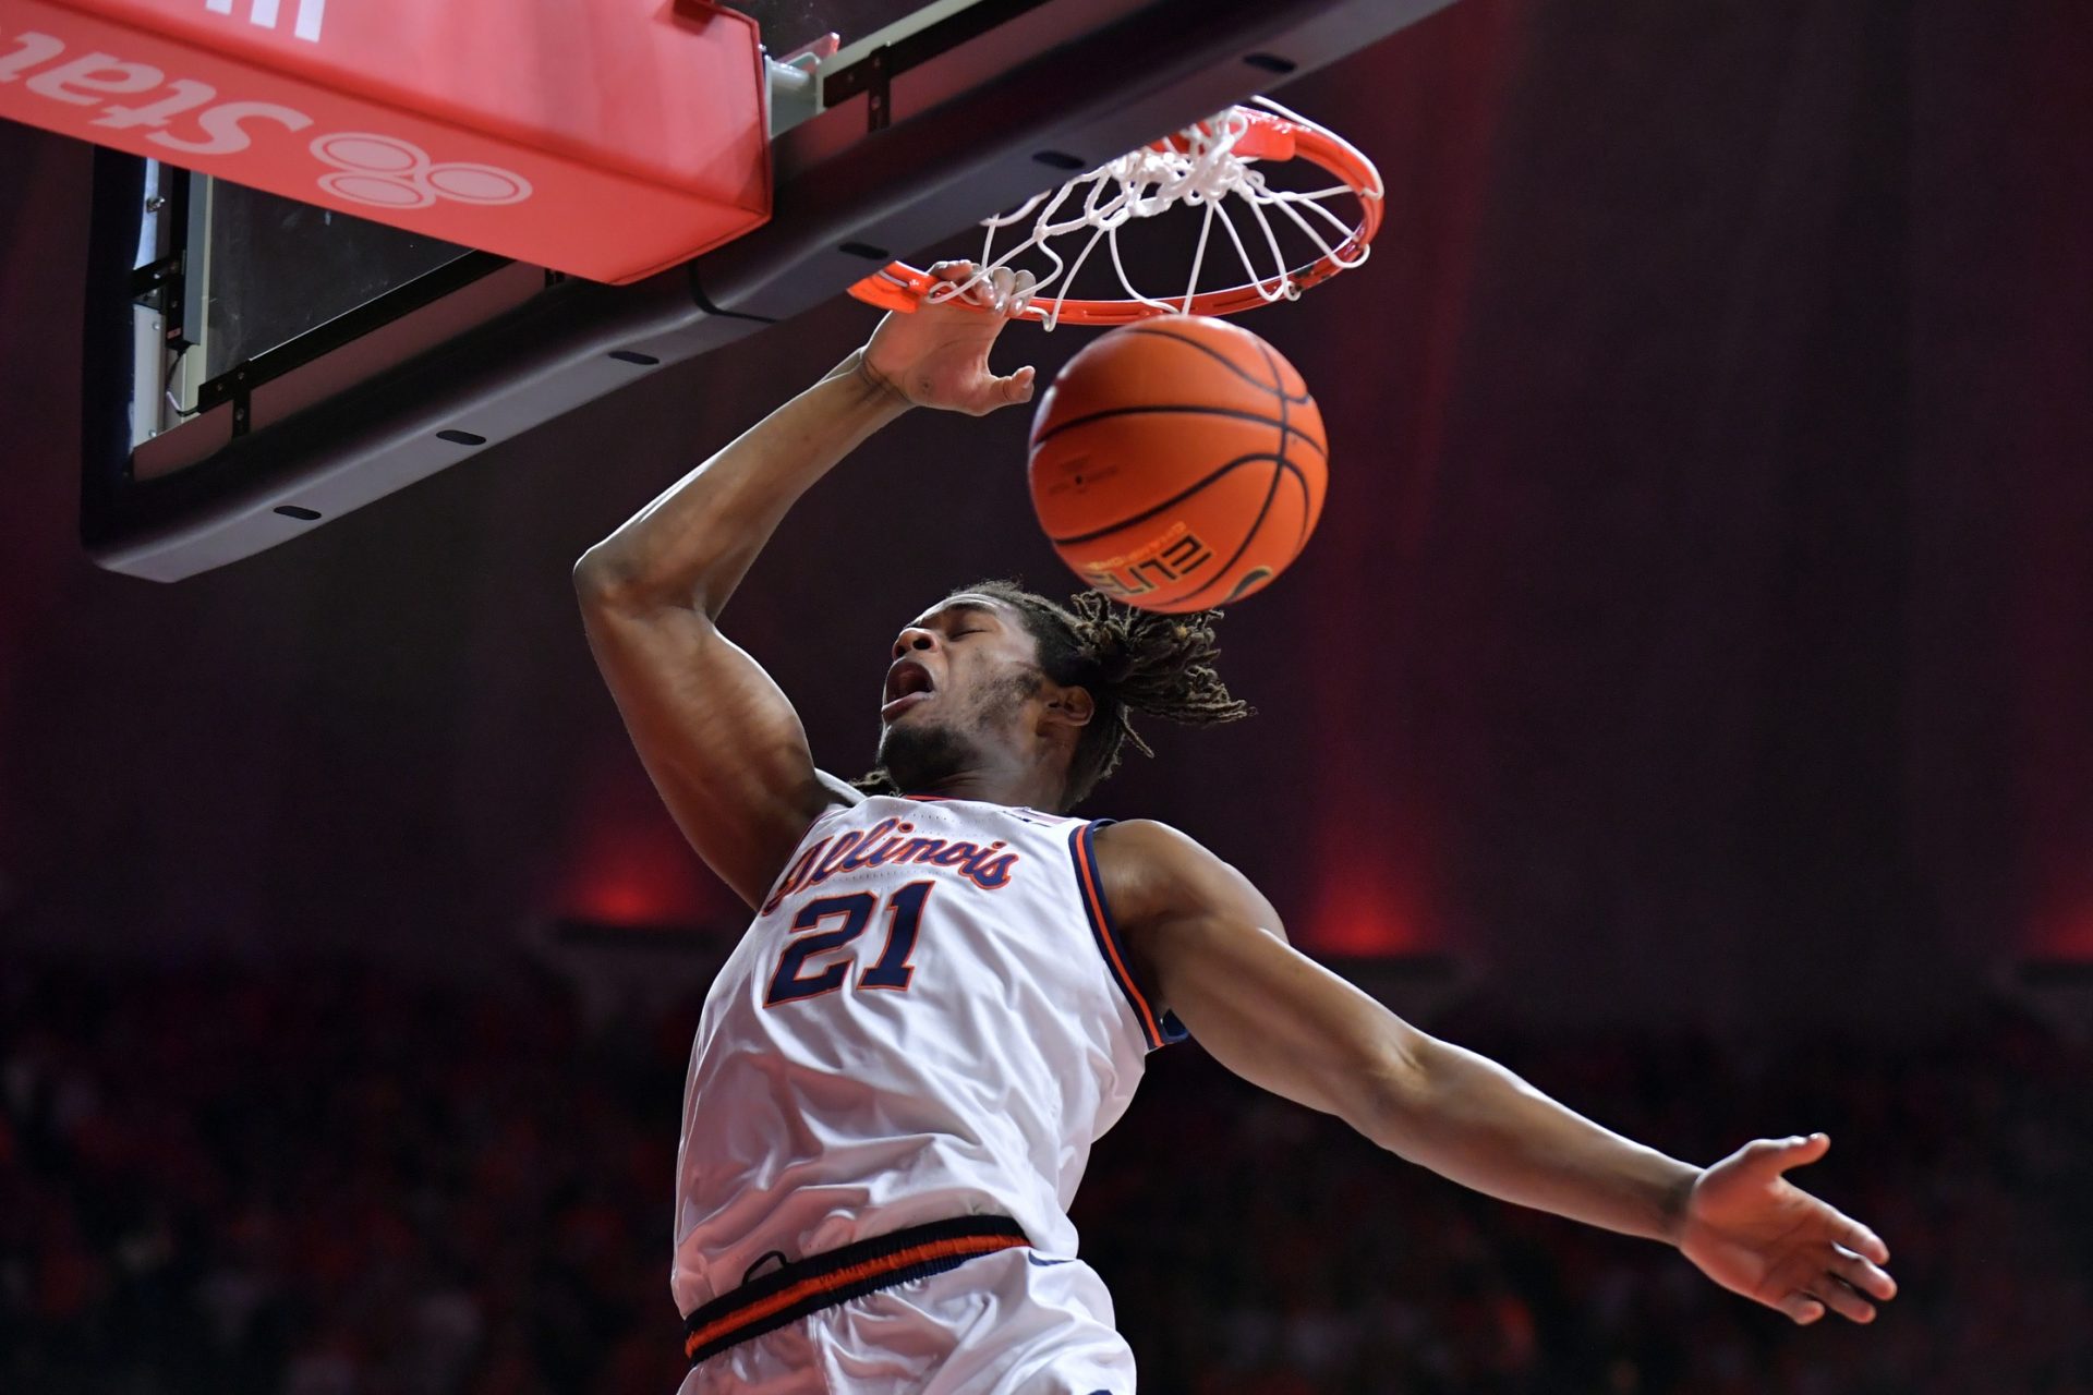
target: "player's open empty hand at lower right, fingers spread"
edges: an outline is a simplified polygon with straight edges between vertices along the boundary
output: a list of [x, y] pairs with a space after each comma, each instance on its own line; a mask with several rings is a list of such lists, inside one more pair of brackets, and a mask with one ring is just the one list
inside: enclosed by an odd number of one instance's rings
[[1810, 1324], [1833, 1311], [1873, 1322], [1896, 1297], [1873, 1230], [1817, 1200], [1783, 1173], [1831, 1148], [1823, 1134], [1746, 1144], [1706, 1169], [1687, 1196], [1679, 1249], [1702, 1274]]

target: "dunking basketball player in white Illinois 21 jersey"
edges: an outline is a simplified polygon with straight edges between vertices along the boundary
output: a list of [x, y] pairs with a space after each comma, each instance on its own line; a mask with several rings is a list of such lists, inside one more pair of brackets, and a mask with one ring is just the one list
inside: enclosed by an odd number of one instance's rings
[[1005, 318], [984, 305], [1023, 289], [887, 316], [576, 567], [647, 770], [756, 910], [691, 1054], [684, 1395], [1130, 1395], [1067, 1205], [1143, 1056], [1185, 1031], [1455, 1182], [1670, 1242], [1798, 1324], [1873, 1320], [1896, 1293], [1882, 1240], [1783, 1177], [1823, 1134], [1712, 1167], [1628, 1142], [1293, 952], [1258, 889], [1183, 832], [1067, 814], [1139, 747], [1130, 713], [1243, 715], [1212, 615], [954, 592], [894, 640], [879, 770], [860, 788], [814, 768], [720, 611], [793, 500], [873, 431], [1032, 395], [1030, 368], [988, 368]]

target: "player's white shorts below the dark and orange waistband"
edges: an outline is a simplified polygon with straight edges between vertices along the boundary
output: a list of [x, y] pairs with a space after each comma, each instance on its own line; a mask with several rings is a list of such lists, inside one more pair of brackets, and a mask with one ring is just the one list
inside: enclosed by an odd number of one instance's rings
[[678, 1395], [1134, 1395], [1111, 1295], [1007, 1249], [825, 1307], [691, 1368]]

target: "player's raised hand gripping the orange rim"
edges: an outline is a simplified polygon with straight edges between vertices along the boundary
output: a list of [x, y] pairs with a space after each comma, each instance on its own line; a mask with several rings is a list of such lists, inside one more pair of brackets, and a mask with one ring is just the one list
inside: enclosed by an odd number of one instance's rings
[[[971, 261], [940, 261], [931, 274], [948, 282], [973, 278]], [[996, 376], [988, 349], [1011, 316], [1032, 297], [1032, 272], [994, 268], [950, 299], [929, 299], [890, 312], [862, 349], [858, 370], [919, 408], [986, 416], [1032, 399], [1032, 368]]]

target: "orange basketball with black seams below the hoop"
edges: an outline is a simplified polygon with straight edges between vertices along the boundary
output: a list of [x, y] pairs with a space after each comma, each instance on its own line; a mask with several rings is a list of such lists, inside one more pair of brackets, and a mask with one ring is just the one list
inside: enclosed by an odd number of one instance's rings
[[1323, 512], [1323, 414], [1226, 320], [1157, 316], [1072, 358], [1032, 416], [1032, 506], [1084, 584], [1145, 611], [1262, 590]]

